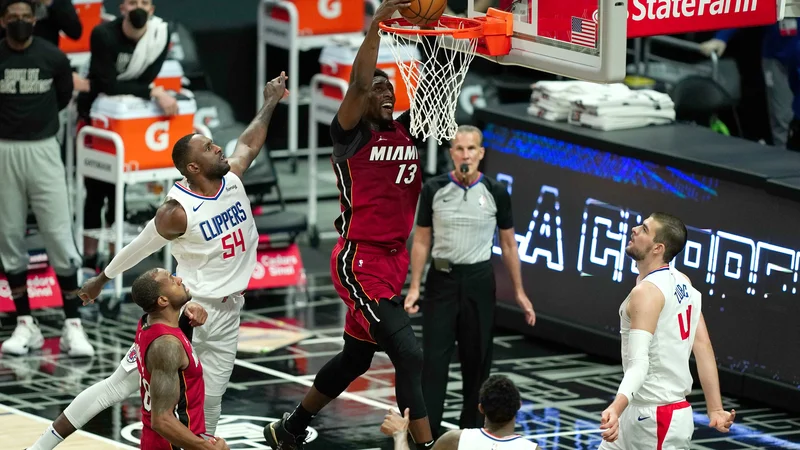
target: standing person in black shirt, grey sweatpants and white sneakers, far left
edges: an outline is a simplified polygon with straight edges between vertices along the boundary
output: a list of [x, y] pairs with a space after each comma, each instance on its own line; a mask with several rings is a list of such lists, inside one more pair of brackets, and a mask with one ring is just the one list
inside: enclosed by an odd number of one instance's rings
[[44, 345], [28, 299], [28, 207], [36, 215], [47, 257], [63, 295], [60, 347], [70, 356], [92, 356], [78, 314], [81, 257], [72, 234], [64, 163], [56, 140], [58, 113], [72, 97], [69, 59], [33, 36], [34, 2], [6, 0], [0, 41], [0, 261], [17, 311], [17, 327], [3, 354], [23, 355]]

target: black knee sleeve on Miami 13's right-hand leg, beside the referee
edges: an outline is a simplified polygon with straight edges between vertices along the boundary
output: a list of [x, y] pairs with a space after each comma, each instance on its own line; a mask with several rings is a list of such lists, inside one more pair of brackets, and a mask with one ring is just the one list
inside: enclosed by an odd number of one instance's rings
[[410, 408], [411, 420], [427, 417], [422, 395], [422, 348], [411, 325], [378, 341], [394, 364], [395, 394], [400, 410]]

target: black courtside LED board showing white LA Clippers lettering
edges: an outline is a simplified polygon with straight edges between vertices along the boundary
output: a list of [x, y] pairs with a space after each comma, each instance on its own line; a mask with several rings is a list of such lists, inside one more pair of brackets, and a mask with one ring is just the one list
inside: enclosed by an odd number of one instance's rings
[[[649, 213], [689, 229], [673, 264], [703, 294], [722, 367], [798, 386], [800, 211], [763, 190], [488, 123], [484, 171], [504, 182], [538, 314], [618, 336], [636, 282], [625, 255]], [[513, 292], [495, 242], [498, 298]]]

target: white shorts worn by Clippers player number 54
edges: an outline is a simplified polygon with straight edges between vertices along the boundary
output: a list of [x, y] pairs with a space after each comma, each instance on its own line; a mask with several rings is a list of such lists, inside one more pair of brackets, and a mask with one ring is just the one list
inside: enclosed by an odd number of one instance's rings
[[[244, 296], [229, 295], [216, 300], [193, 298], [192, 301], [201, 304], [208, 313], [206, 323], [194, 329], [192, 347], [203, 365], [206, 395], [220, 397], [227, 390], [233, 373], [239, 346], [239, 313], [244, 307]], [[137, 370], [136, 358], [131, 346], [120, 366], [126, 372]]]

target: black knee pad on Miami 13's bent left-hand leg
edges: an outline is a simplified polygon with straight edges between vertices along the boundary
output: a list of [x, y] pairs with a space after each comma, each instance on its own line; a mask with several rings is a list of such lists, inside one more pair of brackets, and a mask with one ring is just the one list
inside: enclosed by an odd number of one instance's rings
[[372, 364], [375, 346], [369, 342], [346, 339], [344, 349], [320, 369], [314, 387], [330, 398], [336, 398]]

